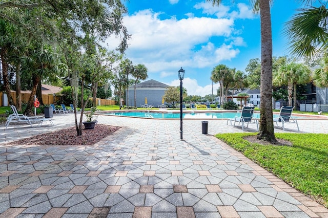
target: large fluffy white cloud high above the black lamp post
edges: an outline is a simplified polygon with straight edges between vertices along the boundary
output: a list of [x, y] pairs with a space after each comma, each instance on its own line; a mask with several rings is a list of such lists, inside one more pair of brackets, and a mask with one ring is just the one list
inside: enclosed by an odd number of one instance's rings
[[[175, 17], [160, 20], [160, 13], [142, 10], [124, 18], [132, 34], [127, 57], [133, 63], [144, 63], [149, 73], [170, 72], [180, 66], [212, 67], [217, 61], [238, 54], [230, 47], [211, 42], [211, 37], [230, 37], [233, 20], [210, 17]], [[198, 49], [199, 48], [199, 49]], [[224, 49], [224, 55], [217, 56]], [[161, 76], [170, 75], [161, 73]]]

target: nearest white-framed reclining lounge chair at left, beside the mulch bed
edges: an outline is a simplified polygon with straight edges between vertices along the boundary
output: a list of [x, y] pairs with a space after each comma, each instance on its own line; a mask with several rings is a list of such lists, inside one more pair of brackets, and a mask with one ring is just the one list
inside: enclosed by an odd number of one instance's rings
[[[14, 105], [10, 105], [10, 108], [13, 111], [13, 114], [7, 117], [5, 123], [6, 128], [11, 122], [26, 122], [27, 124], [30, 124], [31, 127], [40, 127], [43, 121], [49, 121], [52, 125], [54, 125], [52, 120], [49, 118], [45, 118], [43, 116], [28, 117], [24, 114], [18, 114], [17, 109]], [[37, 125], [33, 125], [35, 123], [37, 123]]]

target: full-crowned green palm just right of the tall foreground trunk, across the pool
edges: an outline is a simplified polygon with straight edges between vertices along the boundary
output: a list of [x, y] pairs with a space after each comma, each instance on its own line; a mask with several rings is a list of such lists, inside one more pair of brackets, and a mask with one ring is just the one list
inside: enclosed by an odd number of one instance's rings
[[[311, 70], [302, 63], [291, 62], [281, 66], [274, 75], [273, 83], [276, 85], [287, 85], [288, 102], [292, 106], [294, 98], [294, 106], [296, 106], [296, 88], [298, 84], [306, 84], [311, 80]], [[294, 93], [294, 95], [293, 95]], [[292, 97], [293, 95], [293, 97]]]

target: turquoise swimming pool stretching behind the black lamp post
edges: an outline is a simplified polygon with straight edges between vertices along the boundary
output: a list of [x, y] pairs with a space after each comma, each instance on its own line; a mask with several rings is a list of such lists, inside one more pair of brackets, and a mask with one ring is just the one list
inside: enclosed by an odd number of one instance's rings
[[[153, 118], [153, 119], [180, 119], [180, 113], [168, 112], [110, 112], [105, 113], [112, 116], [138, 117], [138, 118]], [[184, 112], [183, 119], [228, 119], [240, 116], [240, 112]], [[260, 113], [254, 112], [254, 118], [260, 118]], [[274, 117], [277, 115], [274, 115]], [[297, 119], [316, 119], [316, 117], [294, 116]]]

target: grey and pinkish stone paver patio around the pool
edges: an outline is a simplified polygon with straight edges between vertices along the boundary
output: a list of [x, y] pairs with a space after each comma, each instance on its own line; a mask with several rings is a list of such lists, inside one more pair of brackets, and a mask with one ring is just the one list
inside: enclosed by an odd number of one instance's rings
[[[328, 209], [245, 158], [217, 133], [227, 120], [152, 120], [100, 115], [122, 126], [94, 146], [6, 145], [74, 125], [0, 126], [0, 217], [328, 217]], [[286, 132], [328, 133], [328, 120]], [[256, 132], [250, 126], [246, 132]], [[275, 132], [283, 132], [275, 127]]]

